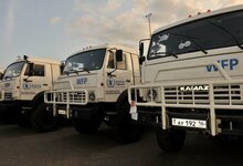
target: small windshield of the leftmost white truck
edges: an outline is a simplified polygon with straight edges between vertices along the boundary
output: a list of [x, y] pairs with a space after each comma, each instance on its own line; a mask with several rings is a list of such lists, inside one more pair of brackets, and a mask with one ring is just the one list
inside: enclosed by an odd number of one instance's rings
[[22, 61], [10, 64], [4, 72], [3, 80], [19, 76], [24, 63], [25, 62]]

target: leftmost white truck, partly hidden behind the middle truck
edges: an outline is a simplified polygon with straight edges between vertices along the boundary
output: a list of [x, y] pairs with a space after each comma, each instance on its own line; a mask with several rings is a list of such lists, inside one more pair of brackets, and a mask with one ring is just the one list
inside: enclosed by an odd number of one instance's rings
[[19, 126], [33, 126], [40, 132], [53, 131], [59, 118], [46, 111], [44, 91], [61, 75], [61, 63], [54, 60], [18, 59], [10, 64], [0, 82], [0, 110]]

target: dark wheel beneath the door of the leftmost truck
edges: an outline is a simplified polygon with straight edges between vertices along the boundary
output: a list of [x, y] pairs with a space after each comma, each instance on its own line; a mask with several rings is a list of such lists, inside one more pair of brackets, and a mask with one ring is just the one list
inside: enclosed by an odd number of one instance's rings
[[31, 114], [31, 124], [39, 132], [51, 132], [59, 127], [59, 117], [53, 116], [52, 110], [46, 111], [46, 104], [40, 103]]

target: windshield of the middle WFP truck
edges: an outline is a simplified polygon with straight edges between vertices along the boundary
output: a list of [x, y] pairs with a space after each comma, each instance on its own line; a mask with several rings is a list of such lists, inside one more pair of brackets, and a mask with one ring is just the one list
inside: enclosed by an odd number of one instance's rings
[[99, 70], [103, 65], [106, 49], [92, 50], [87, 52], [77, 53], [66, 60], [64, 74]]

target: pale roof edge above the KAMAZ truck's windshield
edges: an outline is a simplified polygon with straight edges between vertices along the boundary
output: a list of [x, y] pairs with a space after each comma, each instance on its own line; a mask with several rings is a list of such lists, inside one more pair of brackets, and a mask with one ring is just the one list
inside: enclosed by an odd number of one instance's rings
[[192, 22], [192, 21], [196, 21], [196, 20], [200, 20], [200, 19], [204, 19], [204, 18], [210, 18], [210, 17], [222, 14], [222, 13], [239, 11], [239, 10], [243, 10], [243, 4], [234, 6], [234, 7], [228, 7], [228, 8], [223, 8], [223, 9], [219, 9], [219, 10], [214, 10], [214, 11], [209, 11], [209, 12], [203, 12], [203, 13], [200, 13], [200, 14], [192, 15], [190, 18], [183, 19], [181, 21], [173, 22], [173, 23], [168, 24], [166, 27], [159, 28], [156, 31], [154, 31], [152, 34], [156, 34], [156, 33], [158, 33], [160, 31], [163, 31], [163, 30], [167, 30], [167, 29], [180, 25], [180, 24], [189, 23], [189, 22]]

